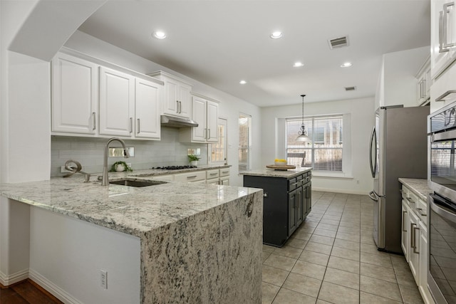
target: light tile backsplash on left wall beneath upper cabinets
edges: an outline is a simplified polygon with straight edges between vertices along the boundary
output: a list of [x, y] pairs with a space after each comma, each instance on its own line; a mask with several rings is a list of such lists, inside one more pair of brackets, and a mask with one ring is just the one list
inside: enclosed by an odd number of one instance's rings
[[[179, 129], [162, 127], [161, 140], [124, 140], [127, 147], [135, 147], [135, 157], [109, 157], [108, 166], [118, 160], [131, 163], [133, 170], [150, 169], [157, 166], [189, 164], [188, 149], [201, 150], [199, 164], [207, 164], [207, 144], [179, 142]], [[108, 138], [64, 137], [51, 138], [51, 177], [61, 176], [61, 166], [69, 159], [76, 160], [87, 173], [103, 172], [103, 155]], [[111, 142], [110, 147], [120, 147]]]

